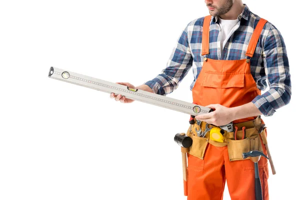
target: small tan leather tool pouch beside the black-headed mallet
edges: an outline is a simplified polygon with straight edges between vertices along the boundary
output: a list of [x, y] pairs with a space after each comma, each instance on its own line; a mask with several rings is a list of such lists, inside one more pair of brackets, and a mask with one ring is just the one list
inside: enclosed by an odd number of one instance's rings
[[[203, 159], [204, 152], [206, 150], [206, 146], [208, 143], [208, 138], [197, 136], [197, 133], [195, 132], [195, 128], [197, 128], [197, 129], [200, 128], [199, 125], [192, 124], [190, 127], [191, 127], [191, 131], [188, 130], [186, 133], [186, 135], [191, 137], [191, 139], [192, 139], [192, 144], [189, 147], [188, 153], [193, 156], [196, 156], [200, 159]], [[209, 135], [209, 134], [206, 134], [206, 135]]]

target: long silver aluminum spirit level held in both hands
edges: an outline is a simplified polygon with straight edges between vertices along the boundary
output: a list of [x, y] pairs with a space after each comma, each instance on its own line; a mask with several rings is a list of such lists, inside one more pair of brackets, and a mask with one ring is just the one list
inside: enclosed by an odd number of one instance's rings
[[[142, 101], [160, 107], [165, 107], [168, 109], [172, 109], [190, 115], [198, 115], [198, 114], [208, 113], [212, 111], [212, 109], [209, 107], [189, 103], [175, 98], [166, 97], [163, 95], [151, 93], [144, 90], [129, 88], [125, 85], [101, 80], [98, 78], [82, 75], [79, 73], [75, 73], [72, 71], [68, 71], [56, 67], [50, 67], [48, 77], [81, 85], [84, 87], [89, 87], [92, 89], [104, 91], [107, 93], [113, 92], [115, 94], [121, 94], [126, 96], [126, 98]], [[232, 123], [220, 127], [227, 131], [233, 131]]]

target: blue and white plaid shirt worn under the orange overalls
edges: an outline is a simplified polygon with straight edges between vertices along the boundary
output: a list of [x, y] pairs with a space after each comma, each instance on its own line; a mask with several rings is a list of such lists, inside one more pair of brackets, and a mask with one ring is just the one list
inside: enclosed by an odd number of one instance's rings
[[[238, 16], [235, 31], [220, 50], [220, 26], [217, 17], [211, 16], [209, 32], [209, 54], [211, 59], [237, 60], [249, 58], [245, 55], [253, 27], [260, 19], [252, 13], [246, 4]], [[190, 21], [177, 40], [166, 67], [152, 80], [144, 82], [154, 93], [166, 95], [178, 87], [178, 84], [192, 68], [194, 79], [190, 89], [201, 71], [203, 56], [201, 41], [204, 17]], [[251, 102], [265, 116], [270, 116], [275, 109], [286, 105], [291, 96], [291, 83], [286, 48], [279, 30], [270, 22], [266, 22], [260, 33], [254, 55], [250, 59], [251, 74], [257, 88], [269, 89], [256, 96]]]

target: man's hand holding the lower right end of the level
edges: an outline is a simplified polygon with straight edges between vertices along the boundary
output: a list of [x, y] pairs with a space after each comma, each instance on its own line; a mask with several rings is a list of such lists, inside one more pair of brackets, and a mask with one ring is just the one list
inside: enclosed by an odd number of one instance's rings
[[216, 126], [226, 125], [234, 120], [232, 108], [220, 104], [209, 104], [205, 107], [212, 108], [214, 111], [196, 115], [195, 118], [197, 120], [205, 121]]

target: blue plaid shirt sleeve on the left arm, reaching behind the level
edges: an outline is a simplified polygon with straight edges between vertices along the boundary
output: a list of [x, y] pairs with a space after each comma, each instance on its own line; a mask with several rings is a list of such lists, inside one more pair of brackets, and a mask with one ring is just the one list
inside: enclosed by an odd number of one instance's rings
[[144, 82], [154, 93], [166, 95], [178, 87], [192, 65], [192, 56], [188, 44], [187, 28], [181, 32], [176, 45], [167, 61], [166, 67], [152, 80]]

